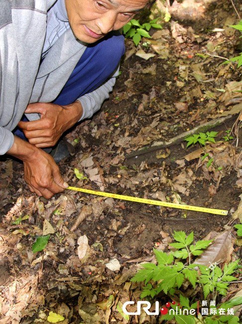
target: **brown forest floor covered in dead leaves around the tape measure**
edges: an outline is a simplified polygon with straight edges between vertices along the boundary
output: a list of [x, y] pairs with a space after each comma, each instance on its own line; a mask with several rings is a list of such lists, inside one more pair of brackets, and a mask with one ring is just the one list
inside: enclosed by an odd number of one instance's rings
[[[46, 200], [28, 190], [22, 164], [4, 158], [0, 323], [49, 323], [50, 311], [63, 315], [60, 323], [65, 324], [128, 323], [120, 305], [138, 300], [141, 292], [129, 279], [141, 262], [153, 260], [153, 248], [167, 249], [174, 230], [193, 231], [195, 240], [211, 231], [235, 234], [232, 226], [238, 220], [232, 215], [242, 187], [242, 81], [236, 65], [221, 64], [218, 56], [242, 51], [237, 49], [239, 33], [229, 27], [238, 17], [226, 0], [210, 4], [205, 16], [195, 21], [172, 17], [153, 31], [150, 44], [138, 46], [141, 57], [126, 40], [110, 100], [67, 135], [75, 155], [60, 169], [71, 186], [225, 209], [228, 215], [70, 190]], [[147, 53], [154, 55], [145, 60]], [[216, 143], [186, 148], [184, 137], [173, 141], [213, 120], [220, 125], [200, 132], [218, 132]], [[226, 141], [231, 130], [233, 139]], [[36, 237], [46, 234], [44, 251], [33, 253]], [[239, 289], [234, 284], [231, 291]], [[156, 321], [154, 316], [129, 319]]]

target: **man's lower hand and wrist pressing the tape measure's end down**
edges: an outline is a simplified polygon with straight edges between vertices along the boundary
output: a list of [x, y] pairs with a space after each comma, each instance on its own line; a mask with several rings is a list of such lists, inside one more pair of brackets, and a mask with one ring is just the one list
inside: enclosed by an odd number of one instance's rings
[[54, 159], [28, 142], [15, 137], [7, 153], [23, 161], [24, 179], [37, 195], [49, 199], [68, 187]]

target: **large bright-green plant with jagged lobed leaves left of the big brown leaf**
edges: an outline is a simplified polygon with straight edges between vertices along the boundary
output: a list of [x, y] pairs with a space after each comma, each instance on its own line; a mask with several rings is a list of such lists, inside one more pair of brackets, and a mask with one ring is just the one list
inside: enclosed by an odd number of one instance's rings
[[[141, 298], [146, 296], [154, 297], [161, 291], [165, 294], [173, 295], [175, 289], [179, 289], [183, 282], [188, 279], [192, 286], [195, 288], [197, 283], [198, 272], [194, 269], [196, 265], [191, 264], [192, 255], [200, 255], [212, 240], [198, 241], [192, 245], [193, 232], [186, 236], [185, 232], [174, 232], [175, 243], [170, 245], [177, 249], [177, 251], [171, 251], [169, 254], [154, 250], [154, 254], [157, 260], [157, 265], [153, 263], [145, 263], [142, 265], [143, 269], [131, 279], [131, 281], [141, 282], [145, 281], [145, 287], [141, 294]], [[177, 259], [187, 259], [188, 265], [183, 264]], [[161, 281], [162, 278], [162, 281]], [[157, 283], [154, 287], [150, 281]]]

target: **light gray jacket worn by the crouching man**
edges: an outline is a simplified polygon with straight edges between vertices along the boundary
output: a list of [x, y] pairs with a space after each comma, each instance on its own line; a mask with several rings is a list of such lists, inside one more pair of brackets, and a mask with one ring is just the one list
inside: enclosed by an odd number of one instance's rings
[[[64, 87], [86, 46], [69, 28], [40, 58], [47, 10], [56, 0], [1, 0], [0, 8], [0, 155], [13, 145], [11, 131], [29, 103], [52, 102]], [[118, 71], [92, 93], [79, 98], [91, 117], [109, 97]], [[38, 114], [26, 114], [29, 120]]]

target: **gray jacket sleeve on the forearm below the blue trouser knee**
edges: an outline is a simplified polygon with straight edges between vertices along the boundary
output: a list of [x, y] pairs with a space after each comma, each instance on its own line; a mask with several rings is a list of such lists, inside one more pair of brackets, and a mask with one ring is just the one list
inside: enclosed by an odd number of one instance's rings
[[104, 100], [109, 98], [109, 93], [113, 90], [116, 77], [119, 75], [119, 70], [120, 67], [118, 67], [112, 77], [98, 89], [78, 98], [83, 108], [83, 115], [80, 121], [91, 118], [101, 108]]

